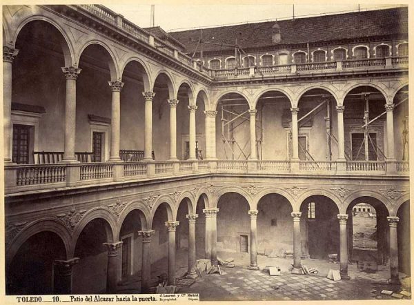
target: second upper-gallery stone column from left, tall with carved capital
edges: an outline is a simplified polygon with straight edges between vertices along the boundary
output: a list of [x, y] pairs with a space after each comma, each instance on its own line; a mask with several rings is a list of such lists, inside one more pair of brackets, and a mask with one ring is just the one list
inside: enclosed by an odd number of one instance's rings
[[66, 77], [65, 102], [65, 152], [62, 161], [65, 163], [77, 162], [75, 157], [76, 137], [76, 79], [81, 69], [75, 67], [62, 67]]

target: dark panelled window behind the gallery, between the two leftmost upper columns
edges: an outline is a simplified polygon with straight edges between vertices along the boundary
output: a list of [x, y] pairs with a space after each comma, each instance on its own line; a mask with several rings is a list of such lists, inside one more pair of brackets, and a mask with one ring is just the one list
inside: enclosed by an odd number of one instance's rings
[[33, 126], [13, 124], [12, 161], [29, 164], [30, 128]]

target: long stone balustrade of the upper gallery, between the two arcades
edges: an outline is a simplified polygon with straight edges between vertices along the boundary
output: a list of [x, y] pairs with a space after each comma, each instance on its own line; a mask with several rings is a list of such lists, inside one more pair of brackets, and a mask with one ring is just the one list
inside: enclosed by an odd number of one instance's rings
[[[389, 168], [387, 165], [390, 165]], [[253, 173], [255, 175], [399, 175], [409, 174], [408, 161], [275, 161], [195, 160], [138, 161], [78, 164], [32, 164], [5, 166], [7, 193], [57, 187], [77, 187], [131, 179]]]

